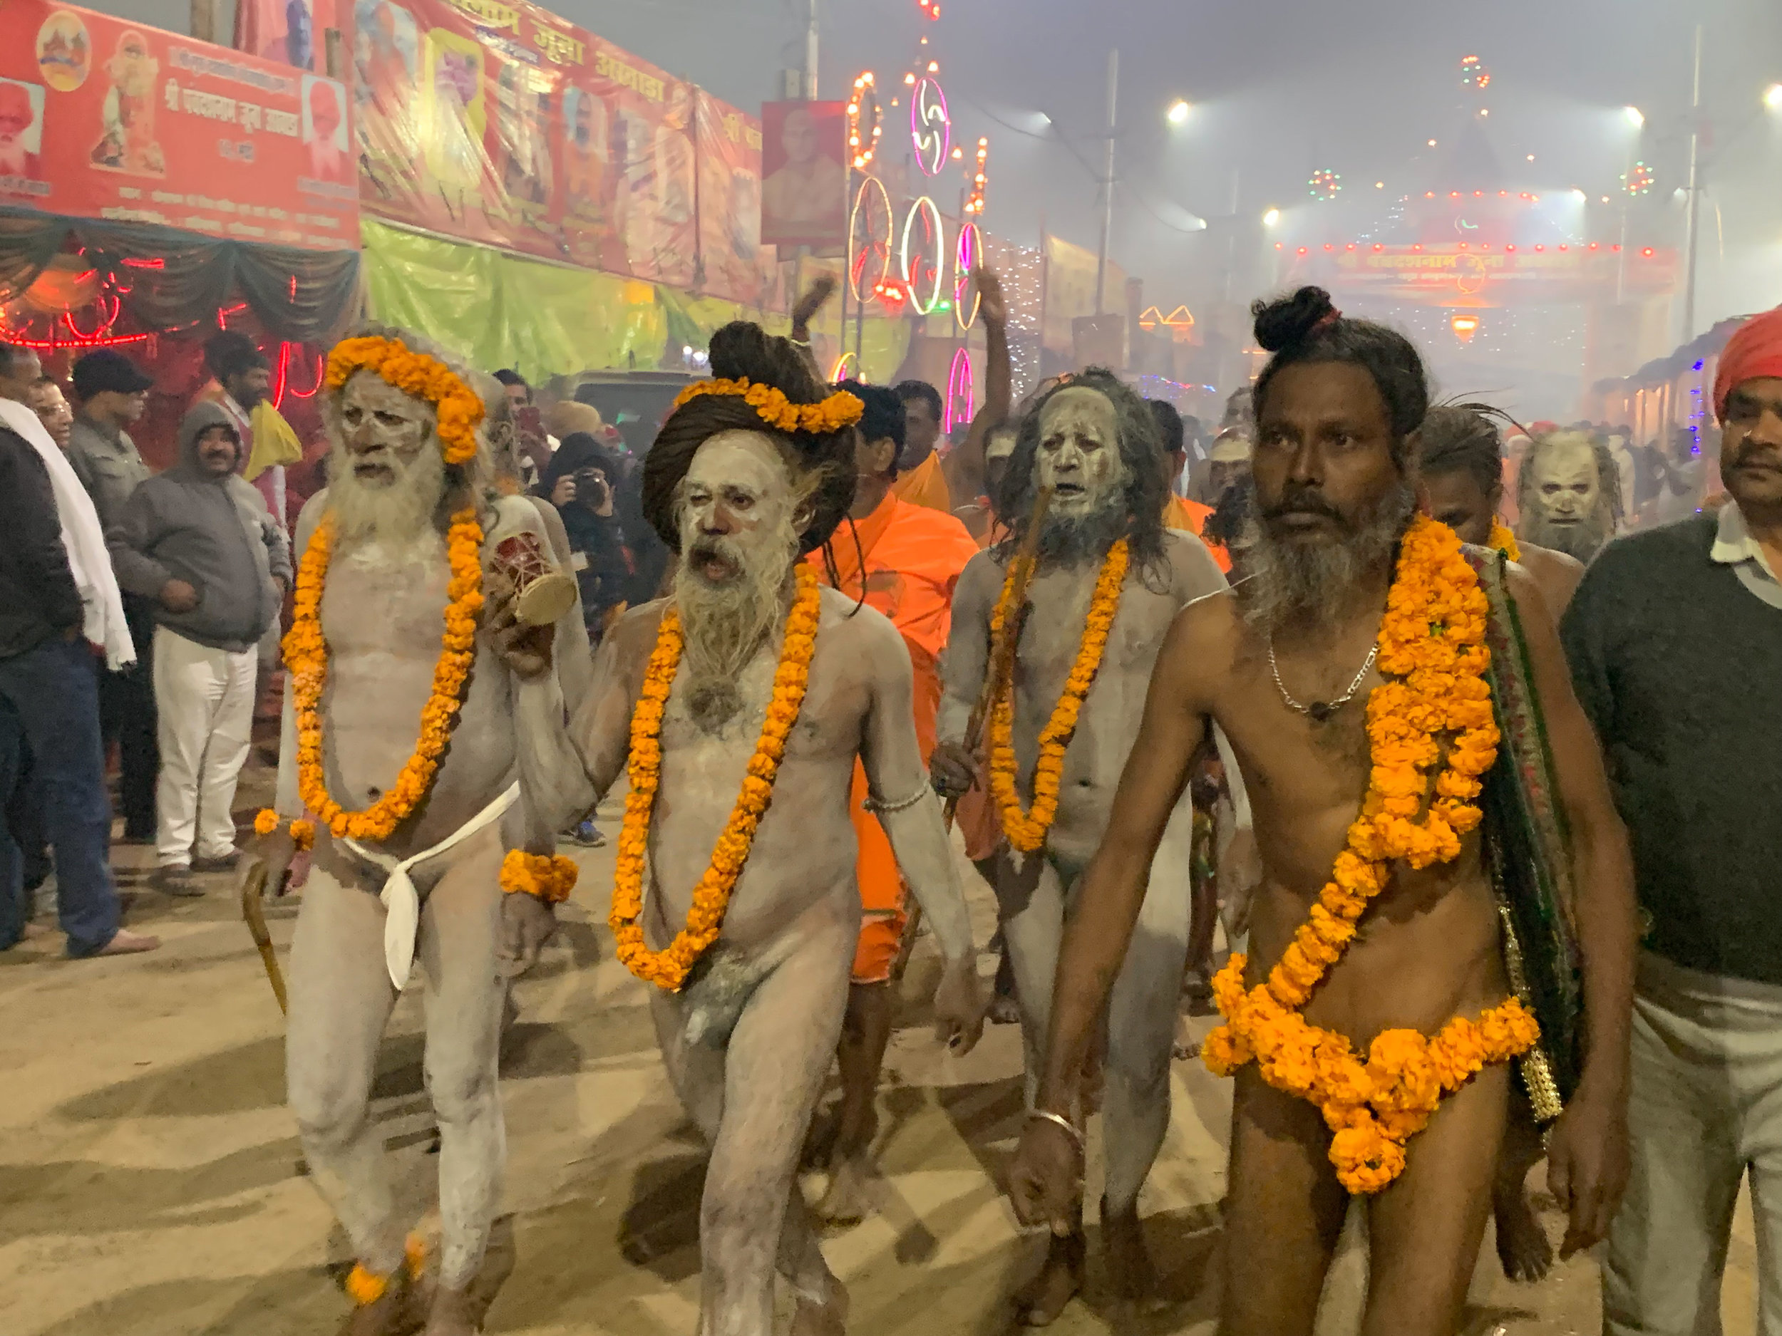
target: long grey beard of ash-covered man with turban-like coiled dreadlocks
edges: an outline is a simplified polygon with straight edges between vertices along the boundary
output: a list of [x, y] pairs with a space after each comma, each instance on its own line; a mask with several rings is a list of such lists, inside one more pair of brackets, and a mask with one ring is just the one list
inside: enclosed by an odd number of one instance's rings
[[[723, 540], [718, 540], [723, 543]], [[686, 550], [695, 543], [683, 540]], [[761, 647], [786, 618], [786, 572], [798, 559], [798, 533], [789, 518], [781, 533], [750, 559], [731, 543], [741, 574], [713, 584], [683, 561], [674, 577], [681, 611], [681, 672], [686, 673], [688, 711], [707, 732], [718, 732], [743, 707], [738, 682]]]

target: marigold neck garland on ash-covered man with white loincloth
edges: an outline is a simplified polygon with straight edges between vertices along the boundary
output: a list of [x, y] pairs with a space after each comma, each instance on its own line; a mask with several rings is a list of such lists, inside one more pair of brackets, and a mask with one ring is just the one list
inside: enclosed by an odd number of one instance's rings
[[[451, 602], [446, 604], [446, 636], [433, 668], [433, 695], [421, 709], [421, 736], [396, 784], [358, 812], [346, 811], [328, 796], [323, 773], [321, 698], [328, 684], [328, 641], [323, 638], [321, 606], [331, 549], [333, 524], [323, 518], [298, 566], [296, 611], [285, 636], [285, 666], [290, 670], [298, 721], [298, 794], [337, 837], [381, 843], [408, 819], [431, 787], [440, 754], [463, 705], [476, 659], [476, 615], [483, 606], [483, 525], [470, 508], [451, 517], [446, 534], [446, 558], [451, 563], [446, 595]], [[255, 818], [257, 828], [264, 818], [266, 812]], [[278, 821], [276, 812], [273, 821]]]

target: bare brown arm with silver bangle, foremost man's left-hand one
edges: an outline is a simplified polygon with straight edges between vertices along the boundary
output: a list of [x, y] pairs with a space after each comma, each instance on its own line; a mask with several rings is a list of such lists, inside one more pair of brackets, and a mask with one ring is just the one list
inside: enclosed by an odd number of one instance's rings
[[1112, 818], [1064, 928], [1039, 1097], [1009, 1181], [1025, 1224], [1050, 1222], [1059, 1233], [1073, 1227], [1082, 1140], [1080, 1135], [1073, 1140], [1064, 1124], [1073, 1119], [1083, 1058], [1144, 905], [1151, 859], [1206, 737], [1210, 700], [1203, 664], [1208, 638], [1230, 616], [1222, 604], [1190, 604], [1169, 627], [1144, 700], [1139, 727], [1144, 745], [1126, 757]]

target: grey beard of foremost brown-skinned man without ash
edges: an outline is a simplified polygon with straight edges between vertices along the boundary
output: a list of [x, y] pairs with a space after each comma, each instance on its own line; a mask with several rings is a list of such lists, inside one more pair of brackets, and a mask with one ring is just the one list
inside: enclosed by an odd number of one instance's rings
[[1288, 623], [1329, 625], [1356, 582], [1392, 559], [1415, 513], [1417, 493], [1399, 485], [1338, 543], [1283, 543], [1267, 522], [1256, 525], [1247, 579], [1235, 586], [1244, 620], [1271, 636]]

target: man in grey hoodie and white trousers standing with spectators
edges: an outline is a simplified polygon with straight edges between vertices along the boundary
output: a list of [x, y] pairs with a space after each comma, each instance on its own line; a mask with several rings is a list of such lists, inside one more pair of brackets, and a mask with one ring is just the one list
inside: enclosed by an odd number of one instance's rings
[[[290, 588], [290, 552], [260, 493], [235, 476], [241, 433], [219, 404], [180, 420], [180, 461], [135, 488], [107, 534], [118, 584], [155, 604], [155, 786], [171, 894], [235, 862], [235, 780], [253, 725], [255, 645]], [[196, 857], [194, 857], [196, 843]]]

